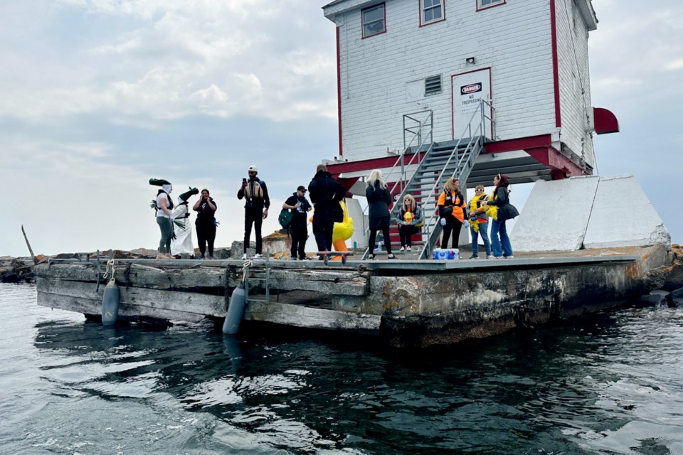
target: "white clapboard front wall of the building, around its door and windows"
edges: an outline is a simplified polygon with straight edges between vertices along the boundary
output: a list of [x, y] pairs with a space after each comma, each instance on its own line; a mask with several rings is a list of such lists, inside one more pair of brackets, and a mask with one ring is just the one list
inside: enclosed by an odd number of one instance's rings
[[[476, 11], [475, 0], [446, 0], [445, 21], [422, 27], [418, 4], [387, 0], [386, 33], [365, 39], [360, 9], [337, 18], [345, 159], [403, 149], [403, 114], [423, 109], [434, 110], [435, 139], [452, 139], [451, 75], [487, 67], [499, 139], [555, 131], [548, 1]], [[443, 90], [425, 96], [424, 79], [434, 75]]]

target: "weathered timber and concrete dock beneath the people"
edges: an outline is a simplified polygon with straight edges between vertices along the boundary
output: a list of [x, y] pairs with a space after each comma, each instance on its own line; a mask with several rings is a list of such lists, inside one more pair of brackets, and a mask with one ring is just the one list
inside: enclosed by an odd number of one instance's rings
[[[369, 333], [396, 347], [448, 344], [591, 313], [649, 291], [672, 262], [664, 245], [529, 254], [515, 259], [341, 263], [119, 259], [119, 316], [216, 323], [248, 274], [245, 320]], [[332, 265], [334, 264], [334, 265]], [[36, 267], [38, 304], [97, 317], [106, 263]]]

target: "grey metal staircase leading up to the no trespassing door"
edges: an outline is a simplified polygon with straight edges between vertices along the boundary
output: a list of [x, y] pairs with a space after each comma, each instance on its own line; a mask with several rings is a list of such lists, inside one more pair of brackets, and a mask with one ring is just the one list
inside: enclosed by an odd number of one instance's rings
[[[431, 256], [433, 247], [442, 232], [437, 201], [445, 181], [448, 178], [456, 177], [460, 180], [461, 188], [465, 188], [465, 183], [475, 165], [477, 156], [484, 149], [485, 126], [487, 120], [491, 124], [493, 122], [485, 114], [485, 107], [490, 107], [490, 104], [482, 100], [477, 109], [472, 112], [470, 122], [455, 146], [452, 146], [452, 142], [448, 146], [440, 146], [436, 142], [429, 144], [417, 170], [403, 186], [401, 195], [391, 208], [391, 225], [396, 225], [396, 218], [401, 208], [400, 201], [407, 193], [413, 195], [415, 201], [422, 208], [425, 224], [422, 228], [423, 248], [418, 259], [426, 259]], [[425, 147], [426, 144], [420, 149]], [[420, 155], [420, 153], [415, 153], [415, 155]], [[363, 259], [368, 257], [371, 247], [374, 245], [369, 245]]]

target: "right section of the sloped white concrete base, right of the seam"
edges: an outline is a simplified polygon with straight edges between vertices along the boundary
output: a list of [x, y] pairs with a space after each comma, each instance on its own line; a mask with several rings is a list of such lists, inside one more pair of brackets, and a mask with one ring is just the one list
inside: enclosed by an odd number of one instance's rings
[[601, 177], [583, 245], [586, 248], [667, 245], [671, 236], [634, 176]]

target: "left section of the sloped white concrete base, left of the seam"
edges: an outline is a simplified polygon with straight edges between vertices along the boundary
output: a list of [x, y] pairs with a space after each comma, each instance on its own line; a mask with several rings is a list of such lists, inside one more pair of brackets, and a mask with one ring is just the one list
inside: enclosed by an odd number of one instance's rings
[[538, 181], [510, 233], [513, 251], [580, 250], [598, 176]]

